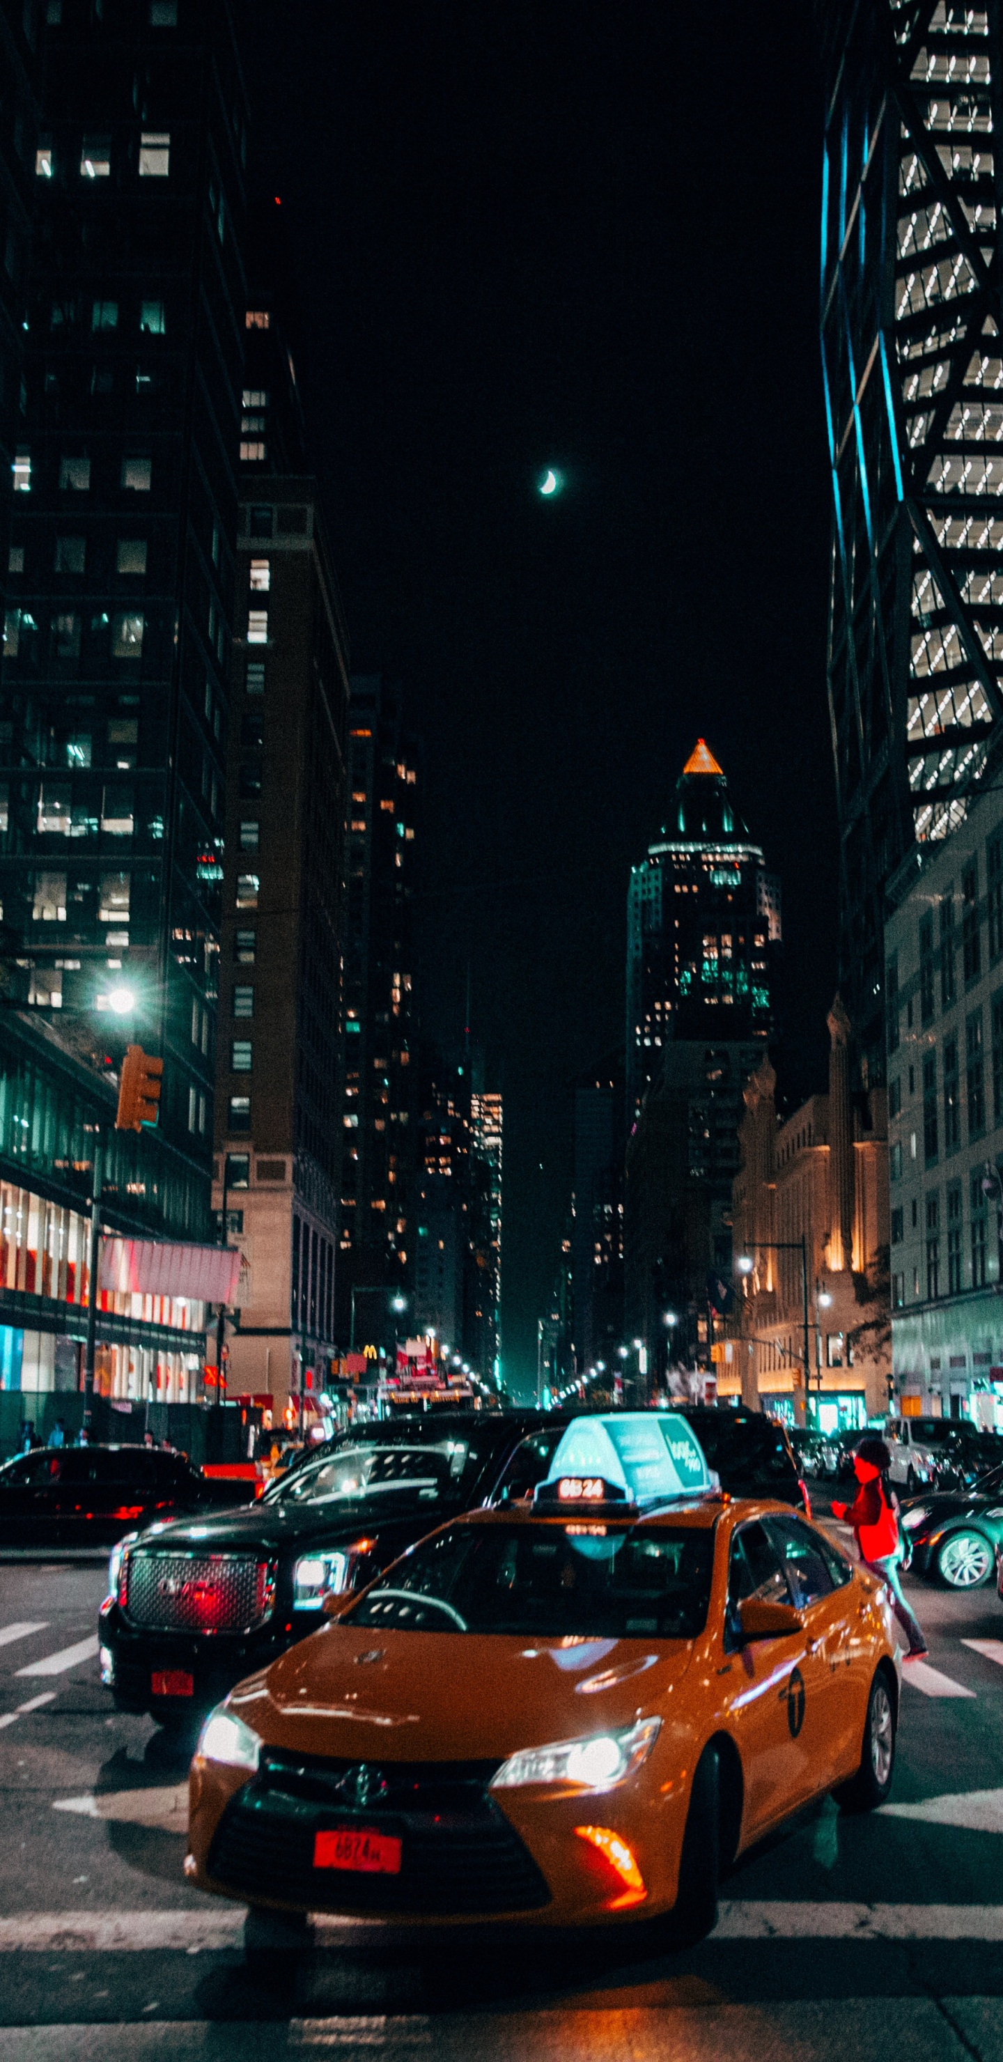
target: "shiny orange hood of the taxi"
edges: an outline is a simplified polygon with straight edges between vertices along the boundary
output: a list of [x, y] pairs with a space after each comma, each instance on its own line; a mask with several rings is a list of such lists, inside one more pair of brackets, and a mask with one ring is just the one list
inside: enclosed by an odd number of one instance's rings
[[689, 1639], [378, 1633], [330, 1623], [227, 1703], [268, 1747], [347, 1761], [504, 1761], [627, 1726], [685, 1676]]

